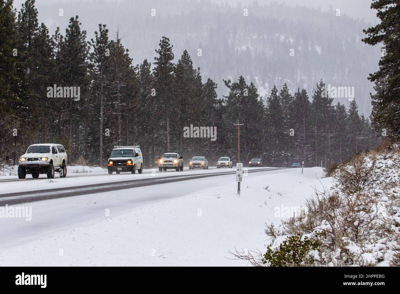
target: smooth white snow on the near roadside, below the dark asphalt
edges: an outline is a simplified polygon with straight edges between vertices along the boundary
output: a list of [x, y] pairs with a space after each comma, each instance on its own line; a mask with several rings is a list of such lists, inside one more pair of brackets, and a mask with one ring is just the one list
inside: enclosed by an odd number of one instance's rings
[[230, 174], [26, 204], [31, 222], [0, 218], [0, 265], [246, 266], [228, 250], [264, 252], [265, 223], [285, 218], [276, 207], [301, 206], [317, 177], [321, 168], [249, 173], [240, 196]]

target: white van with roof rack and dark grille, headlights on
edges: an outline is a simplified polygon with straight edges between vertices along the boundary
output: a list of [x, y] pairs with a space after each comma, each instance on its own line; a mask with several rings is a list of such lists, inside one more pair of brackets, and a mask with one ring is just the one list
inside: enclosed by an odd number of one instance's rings
[[139, 174], [143, 172], [143, 156], [139, 146], [114, 146], [108, 157], [108, 174], [135, 174], [136, 170]]

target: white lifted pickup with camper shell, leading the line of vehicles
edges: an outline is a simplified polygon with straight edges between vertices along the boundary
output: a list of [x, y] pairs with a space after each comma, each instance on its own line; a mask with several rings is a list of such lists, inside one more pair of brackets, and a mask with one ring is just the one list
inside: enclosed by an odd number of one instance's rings
[[67, 176], [67, 153], [60, 144], [33, 144], [20, 157], [18, 164], [18, 178], [24, 179], [26, 174], [32, 178], [39, 178], [39, 174], [46, 174], [47, 178], [54, 178], [54, 172], [60, 178]]

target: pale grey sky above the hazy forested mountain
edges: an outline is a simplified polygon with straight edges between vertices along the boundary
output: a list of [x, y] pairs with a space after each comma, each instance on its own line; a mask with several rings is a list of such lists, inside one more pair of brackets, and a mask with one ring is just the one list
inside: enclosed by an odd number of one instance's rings
[[[36, 0], [36, 3], [43, 4], [48, 1], [54, 0]], [[74, 1], [76, 0], [60, 0], [62, 3]], [[14, 0], [14, 7], [19, 10], [21, 4], [24, 2], [25, 0]], [[238, 2], [242, 4], [250, 4], [254, 2], [254, 0], [212, 0], [212, 2], [219, 4], [229, 3], [232, 6], [236, 6]], [[339, 8], [342, 14], [348, 14], [354, 18], [364, 18], [366, 22], [372, 22], [372, 24], [376, 24], [378, 22], [378, 19], [376, 18], [376, 11], [370, 9], [372, 0], [258, 0], [258, 3], [260, 4], [269, 4], [270, 2], [286, 3], [291, 6], [311, 6], [317, 9], [320, 8], [323, 11], [328, 10], [329, 6], [331, 5], [335, 10], [336, 8]]]

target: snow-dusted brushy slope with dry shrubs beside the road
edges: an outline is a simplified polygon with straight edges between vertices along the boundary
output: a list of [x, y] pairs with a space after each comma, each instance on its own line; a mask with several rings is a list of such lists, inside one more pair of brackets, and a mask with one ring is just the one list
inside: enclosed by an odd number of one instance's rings
[[288, 218], [279, 230], [267, 226], [268, 235], [282, 232], [286, 240], [275, 249], [271, 243], [266, 254], [236, 252], [236, 258], [256, 266], [399, 266], [398, 145], [358, 154], [337, 168], [332, 186], [306, 200], [305, 218]]

